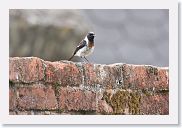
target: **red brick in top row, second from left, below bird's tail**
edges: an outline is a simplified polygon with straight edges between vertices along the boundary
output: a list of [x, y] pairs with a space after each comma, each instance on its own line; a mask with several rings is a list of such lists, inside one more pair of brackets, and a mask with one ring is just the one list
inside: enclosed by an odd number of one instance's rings
[[56, 86], [79, 86], [82, 83], [82, 76], [73, 63], [45, 62], [46, 83]]

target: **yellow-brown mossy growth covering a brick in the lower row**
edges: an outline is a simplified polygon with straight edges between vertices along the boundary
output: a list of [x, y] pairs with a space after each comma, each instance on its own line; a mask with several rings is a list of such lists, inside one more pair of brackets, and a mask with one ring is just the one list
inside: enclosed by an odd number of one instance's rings
[[104, 92], [103, 99], [112, 106], [113, 114], [140, 114], [141, 95], [138, 92], [119, 90], [115, 94]]

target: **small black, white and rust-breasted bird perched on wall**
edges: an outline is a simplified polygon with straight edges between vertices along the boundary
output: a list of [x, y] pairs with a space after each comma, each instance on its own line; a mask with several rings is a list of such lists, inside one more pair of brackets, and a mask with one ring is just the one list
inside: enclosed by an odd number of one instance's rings
[[73, 55], [69, 58], [69, 61], [74, 56], [79, 56], [79, 57], [85, 58], [87, 60], [86, 56], [90, 55], [94, 51], [94, 37], [95, 36], [96, 35], [94, 34], [94, 32], [88, 32], [88, 34], [85, 36], [85, 38], [76, 47]]

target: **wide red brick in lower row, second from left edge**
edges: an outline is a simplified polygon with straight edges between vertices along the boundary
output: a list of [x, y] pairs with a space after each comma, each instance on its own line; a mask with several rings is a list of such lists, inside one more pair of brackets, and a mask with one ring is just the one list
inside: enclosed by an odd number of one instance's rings
[[57, 109], [57, 100], [52, 87], [31, 86], [20, 87], [18, 91], [18, 108], [29, 109]]

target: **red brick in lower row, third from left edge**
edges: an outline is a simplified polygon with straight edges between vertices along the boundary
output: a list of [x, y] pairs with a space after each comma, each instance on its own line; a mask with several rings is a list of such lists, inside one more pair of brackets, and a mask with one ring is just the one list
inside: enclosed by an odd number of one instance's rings
[[61, 110], [96, 110], [95, 92], [75, 88], [60, 88], [59, 93], [59, 108]]

